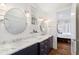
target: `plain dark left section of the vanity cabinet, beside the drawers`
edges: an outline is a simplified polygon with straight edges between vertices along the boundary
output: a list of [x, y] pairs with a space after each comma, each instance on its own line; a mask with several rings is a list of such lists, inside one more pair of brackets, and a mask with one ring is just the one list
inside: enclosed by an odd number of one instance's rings
[[13, 53], [12, 55], [37, 55], [38, 54], [37, 44], [34, 44], [30, 47], [24, 48], [18, 52]]

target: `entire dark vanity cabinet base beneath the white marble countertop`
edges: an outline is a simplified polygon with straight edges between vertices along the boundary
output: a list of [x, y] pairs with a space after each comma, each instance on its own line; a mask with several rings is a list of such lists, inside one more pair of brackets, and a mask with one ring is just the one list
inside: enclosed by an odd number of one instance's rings
[[32, 46], [17, 51], [12, 55], [47, 55], [52, 47], [53, 37], [49, 37], [42, 42], [36, 43]]

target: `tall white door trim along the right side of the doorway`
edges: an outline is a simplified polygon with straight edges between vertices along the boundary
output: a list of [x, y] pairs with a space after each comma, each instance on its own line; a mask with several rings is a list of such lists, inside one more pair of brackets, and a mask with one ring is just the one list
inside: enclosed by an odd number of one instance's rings
[[71, 13], [74, 13], [74, 15], [71, 15], [71, 54], [76, 55], [76, 4], [72, 4]]

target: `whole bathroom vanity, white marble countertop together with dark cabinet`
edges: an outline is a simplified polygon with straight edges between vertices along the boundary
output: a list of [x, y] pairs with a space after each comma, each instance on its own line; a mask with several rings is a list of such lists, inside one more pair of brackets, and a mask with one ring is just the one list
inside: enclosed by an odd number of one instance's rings
[[0, 55], [47, 55], [53, 48], [52, 35], [38, 35], [0, 44]]

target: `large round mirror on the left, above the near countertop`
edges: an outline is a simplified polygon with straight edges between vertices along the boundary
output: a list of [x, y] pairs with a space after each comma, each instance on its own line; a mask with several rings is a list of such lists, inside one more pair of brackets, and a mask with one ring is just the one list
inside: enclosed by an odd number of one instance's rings
[[26, 17], [21, 9], [13, 8], [4, 16], [5, 28], [12, 34], [22, 33], [26, 28]]

